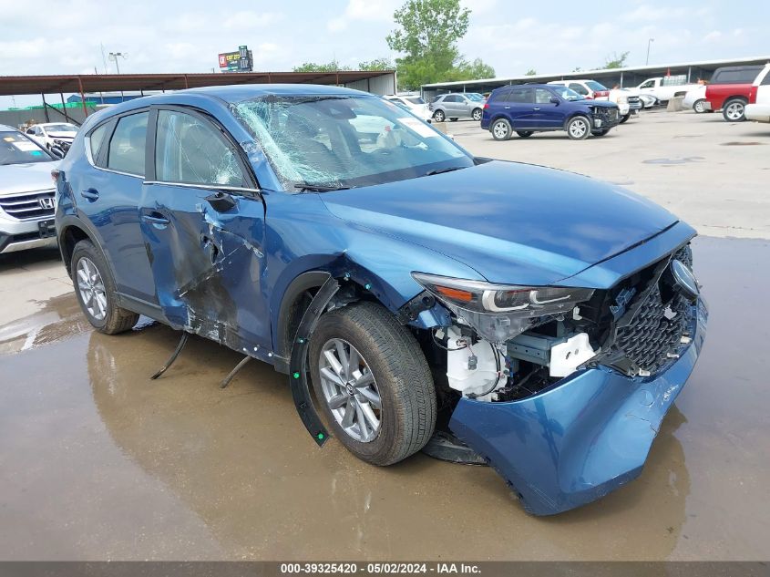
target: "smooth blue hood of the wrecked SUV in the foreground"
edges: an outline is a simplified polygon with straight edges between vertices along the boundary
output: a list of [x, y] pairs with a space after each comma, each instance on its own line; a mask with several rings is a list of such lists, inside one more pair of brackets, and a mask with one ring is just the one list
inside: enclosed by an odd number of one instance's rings
[[321, 197], [338, 218], [446, 254], [493, 283], [557, 283], [677, 222], [618, 186], [498, 160]]

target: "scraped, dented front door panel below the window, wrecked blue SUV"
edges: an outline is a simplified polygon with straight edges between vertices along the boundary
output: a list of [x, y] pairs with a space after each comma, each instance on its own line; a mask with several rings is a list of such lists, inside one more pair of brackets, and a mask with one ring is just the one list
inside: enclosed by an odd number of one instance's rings
[[256, 196], [219, 191], [234, 203], [223, 207], [211, 200], [217, 194], [213, 188], [147, 183], [139, 221], [169, 323], [253, 354], [271, 346], [260, 290], [264, 205]]

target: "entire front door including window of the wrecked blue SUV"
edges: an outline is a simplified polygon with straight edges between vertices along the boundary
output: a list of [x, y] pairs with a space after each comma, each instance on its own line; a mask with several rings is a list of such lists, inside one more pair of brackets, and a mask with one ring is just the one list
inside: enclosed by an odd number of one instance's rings
[[264, 205], [236, 145], [195, 111], [159, 108], [150, 122], [139, 221], [163, 314], [241, 352], [269, 349]]

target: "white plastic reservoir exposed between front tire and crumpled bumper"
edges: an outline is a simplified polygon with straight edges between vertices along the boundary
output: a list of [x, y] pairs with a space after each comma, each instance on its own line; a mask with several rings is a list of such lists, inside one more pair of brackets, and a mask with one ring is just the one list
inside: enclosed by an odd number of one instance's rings
[[[498, 364], [495, 361], [495, 351], [492, 344], [484, 339], [470, 346], [463, 346], [466, 337], [460, 334], [455, 326], [447, 328], [449, 350], [447, 351], [447, 378], [449, 386], [460, 391], [464, 396], [476, 395], [477, 401], [491, 401], [492, 391], [503, 386], [508, 377], [498, 373]], [[457, 341], [460, 341], [457, 344]], [[470, 337], [467, 337], [470, 341]], [[462, 348], [460, 348], [462, 347]], [[476, 356], [476, 368], [469, 368], [468, 362], [471, 356]], [[500, 359], [502, 371], [504, 361]], [[471, 363], [471, 366], [472, 363]]]

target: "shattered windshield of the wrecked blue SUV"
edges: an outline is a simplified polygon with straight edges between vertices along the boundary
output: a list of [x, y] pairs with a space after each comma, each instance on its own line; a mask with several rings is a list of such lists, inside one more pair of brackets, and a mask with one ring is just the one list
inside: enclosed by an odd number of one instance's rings
[[470, 155], [383, 98], [266, 96], [232, 106], [286, 191], [329, 191], [463, 169]]

